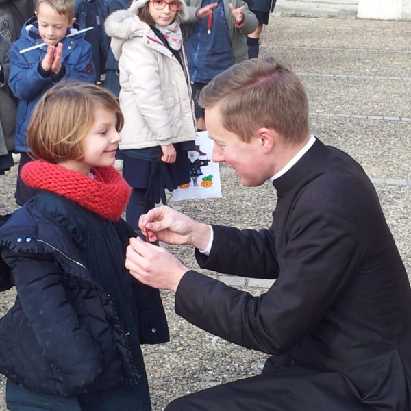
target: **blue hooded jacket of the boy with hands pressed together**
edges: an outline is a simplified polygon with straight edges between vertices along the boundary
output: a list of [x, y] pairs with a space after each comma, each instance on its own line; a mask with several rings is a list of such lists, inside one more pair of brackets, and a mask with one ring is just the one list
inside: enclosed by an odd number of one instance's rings
[[[69, 28], [73, 33], [79, 29], [77, 23]], [[69, 34], [69, 33], [68, 33]], [[38, 34], [37, 17], [26, 21], [21, 29], [21, 36], [13, 43], [10, 51], [10, 75], [9, 87], [18, 98], [16, 115], [16, 151], [27, 151], [25, 147], [25, 134], [30, 116], [37, 101], [55, 83], [62, 79], [73, 79], [84, 82], [95, 82], [96, 73], [92, 63], [92, 48], [90, 43], [84, 40], [84, 33], [64, 37], [62, 39], [62, 69], [64, 75], [49, 75], [43, 77], [39, 71], [39, 65], [45, 57], [47, 46], [27, 51], [23, 54], [20, 50], [42, 43]], [[60, 73], [59, 73], [60, 74]]]

